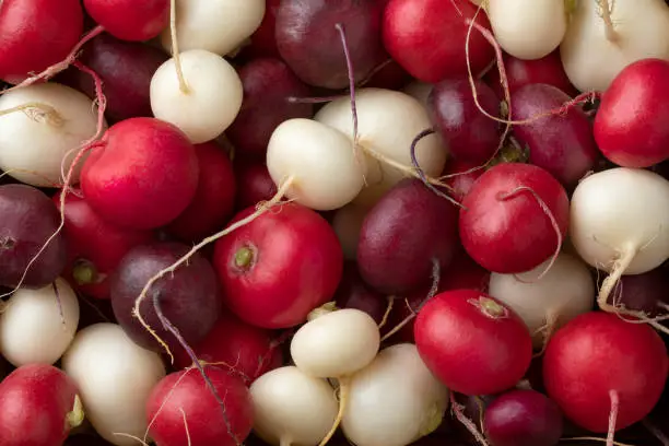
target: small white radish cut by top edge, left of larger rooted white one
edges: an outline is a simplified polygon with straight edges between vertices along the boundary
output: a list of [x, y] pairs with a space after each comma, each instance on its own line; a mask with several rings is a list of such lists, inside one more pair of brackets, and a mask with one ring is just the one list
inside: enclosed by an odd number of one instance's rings
[[564, 0], [488, 0], [486, 11], [497, 43], [518, 59], [540, 59], [564, 38]]

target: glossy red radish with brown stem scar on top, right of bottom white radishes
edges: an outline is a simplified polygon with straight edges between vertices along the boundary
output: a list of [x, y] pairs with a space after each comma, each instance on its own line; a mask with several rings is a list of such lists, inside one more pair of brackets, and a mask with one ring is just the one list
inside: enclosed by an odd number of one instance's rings
[[514, 387], [532, 357], [532, 339], [523, 319], [479, 290], [434, 296], [415, 319], [414, 337], [432, 373], [465, 395]]

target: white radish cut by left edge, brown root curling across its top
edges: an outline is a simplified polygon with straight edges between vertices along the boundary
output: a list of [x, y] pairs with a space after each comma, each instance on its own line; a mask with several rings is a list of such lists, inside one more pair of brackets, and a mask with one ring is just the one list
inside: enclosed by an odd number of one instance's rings
[[96, 129], [93, 102], [69, 86], [44, 83], [8, 92], [0, 96], [0, 168], [32, 186], [58, 186], [74, 150]]

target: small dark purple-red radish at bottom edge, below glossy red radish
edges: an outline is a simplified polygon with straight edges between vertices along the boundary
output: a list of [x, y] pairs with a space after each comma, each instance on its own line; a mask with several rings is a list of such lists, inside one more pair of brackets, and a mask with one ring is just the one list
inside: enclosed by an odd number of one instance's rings
[[491, 446], [555, 446], [562, 437], [562, 412], [535, 390], [512, 390], [488, 406], [483, 430]]

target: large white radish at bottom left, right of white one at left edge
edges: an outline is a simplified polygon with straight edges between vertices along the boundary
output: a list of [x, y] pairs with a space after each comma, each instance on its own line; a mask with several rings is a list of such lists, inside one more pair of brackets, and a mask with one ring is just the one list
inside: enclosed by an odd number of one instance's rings
[[62, 368], [79, 387], [95, 431], [117, 446], [137, 444], [126, 435], [146, 431], [144, 407], [165, 376], [157, 353], [138, 347], [115, 324], [95, 324], [77, 333]]

